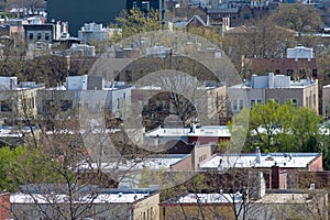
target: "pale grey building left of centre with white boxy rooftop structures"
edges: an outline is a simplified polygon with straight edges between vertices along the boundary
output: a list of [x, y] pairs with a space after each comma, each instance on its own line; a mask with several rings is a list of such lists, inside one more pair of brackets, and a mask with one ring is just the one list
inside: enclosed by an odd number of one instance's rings
[[[55, 109], [56, 114], [65, 111], [70, 114], [77, 113], [79, 108], [90, 112], [105, 110], [111, 118], [124, 118], [131, 103], [131, 88], [98, 76], [69, 76], [65, 86], [38, 91], [37, 103], [42, 118], [56, 117], [52, 116]], [[61, 109], [56, 108], [58, 106]]]

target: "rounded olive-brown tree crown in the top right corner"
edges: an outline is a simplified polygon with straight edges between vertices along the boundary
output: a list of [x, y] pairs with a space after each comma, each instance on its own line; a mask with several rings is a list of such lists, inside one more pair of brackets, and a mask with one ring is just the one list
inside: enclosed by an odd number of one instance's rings
[[322, 24], [315, 7], [301, 3], [280, 4], [271, 19], [275, 24], [297, 32], [318, 31]]

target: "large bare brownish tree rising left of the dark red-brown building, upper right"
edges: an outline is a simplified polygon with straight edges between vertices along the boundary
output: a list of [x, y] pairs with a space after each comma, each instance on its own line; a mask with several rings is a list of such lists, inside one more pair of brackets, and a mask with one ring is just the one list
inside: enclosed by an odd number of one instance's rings
[[223, 37], [223, 50], [242, 78], [255, 74], [245, 72], [242, 58], [278, 58], [285, 55], [287, 47], [295, 45], [294, 32], [276, 25], [271, 19], [255, 21], [254, 25], [244, 28], [242, 33], [224, 33]]

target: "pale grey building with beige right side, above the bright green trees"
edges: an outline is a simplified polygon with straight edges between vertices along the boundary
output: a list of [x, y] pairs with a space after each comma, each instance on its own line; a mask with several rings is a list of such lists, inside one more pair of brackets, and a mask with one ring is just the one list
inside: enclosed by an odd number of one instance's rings
[[274, 75], [267, 76], [253, 75], [250, 81], [244, 81], [228, 88], [231, 111], [239, 113], [244, 107], [251, 108], [254, 103], [266, 103], [275, 100], [279, 105], [293, 101], [297, 108], [307, 107], [318, 112], [318, 80], [297, 79], [292, 81], [289, 76]]

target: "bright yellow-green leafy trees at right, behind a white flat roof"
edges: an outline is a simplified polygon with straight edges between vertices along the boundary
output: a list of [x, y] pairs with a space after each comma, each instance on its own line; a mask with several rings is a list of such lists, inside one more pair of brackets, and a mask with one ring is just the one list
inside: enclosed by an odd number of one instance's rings
[[249, 131], [243, 148], [253, 152], [321, 152], [319, 123], [321, 118], [306, 107], [293, 102], [279, 106], [270, 100], [256, 103], [250, 111]]

